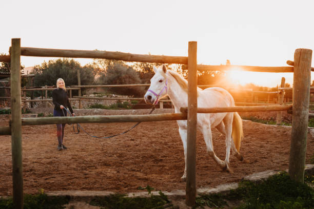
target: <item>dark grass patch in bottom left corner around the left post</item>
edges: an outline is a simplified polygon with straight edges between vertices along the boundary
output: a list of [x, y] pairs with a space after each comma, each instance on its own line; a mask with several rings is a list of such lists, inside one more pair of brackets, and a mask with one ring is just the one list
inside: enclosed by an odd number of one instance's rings
[[[24, 209], [59, 209], [65, 208], [65, 204], [69, 202], [68, 197], [53, 197], [47, 196], [43, 190], [40, 193], [35, 195], [24, 196]], [[0, 198], [0, 208], [11, 209], [13, 208], [13, 199], [12, 197], [8, 199]]]

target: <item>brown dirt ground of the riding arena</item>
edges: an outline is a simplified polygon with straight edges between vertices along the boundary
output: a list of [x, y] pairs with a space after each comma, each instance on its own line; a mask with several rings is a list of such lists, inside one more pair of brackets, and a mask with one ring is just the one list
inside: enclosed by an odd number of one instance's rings
[[[147, 112], [147, 110], [146, 110]], [[97, 136], [121, 133], [134, 123], [83, 123]], [[197, 187], [214, 187], [238, 182], [244, 176], [266, 170], [286, 170], [289, 163], [290, 127], [243, 122], [241, 153], [245, 160], [230, 157], [233, 173], [223, 172], [206, 154], [202, 134], [197, 132]], [[1, 116], [0, 126], [8, 126]], [[125, 135], [96, 139], [85, 133], [74, 134], [66, 125], [64, 144], [57, 151], [55, 125], [23, 126], [24, 192], [38, 190], [92, 190], [119, 193], [136, 192], [139, 186], [156, 190], [185, 189], [183, 145], [176, 121], [143, 122]], [[11, 136], [0, 136], [0, 196], [12, 195]], [[215, 153], [224, 160], [225, 137], [213, 129]], [[308, 134], [307, 158], [314, 151], [314, 139]]]

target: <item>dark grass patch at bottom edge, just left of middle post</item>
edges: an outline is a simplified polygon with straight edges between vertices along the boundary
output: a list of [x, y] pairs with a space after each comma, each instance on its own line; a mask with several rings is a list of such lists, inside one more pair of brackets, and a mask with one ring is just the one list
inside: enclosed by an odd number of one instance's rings
[[[149, 185], [145, 188], [139, 187], [138, 189], [147, 189], [150, 197], [126, 197], [124, 194], [114, 194], [106, 197], [97, 197], [92, 199], [89, 204], [94, 206], [101, 206], [106, 209], [148, 209], [148, 208], [173, 208], [169, 204], [169, 200], [166, 195], [161, 191], [159, 195], [153, 195], [151, 192], [154, 188]], [[168, 207], [169, 206], [169, 207]]]

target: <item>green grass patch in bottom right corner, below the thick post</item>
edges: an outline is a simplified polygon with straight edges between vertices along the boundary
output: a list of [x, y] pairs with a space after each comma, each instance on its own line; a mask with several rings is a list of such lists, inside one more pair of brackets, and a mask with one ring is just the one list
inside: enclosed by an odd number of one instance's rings
[[228, 194], [203, 195], [197, 207], [222, 208], [226, 201], [243, 201], [239, 209], [255, 208], [314, 208], [314, 190], [307, 184], [290, 180], [287, 173], [279, 173], [259, 183], [242, 181], [238, 189]]

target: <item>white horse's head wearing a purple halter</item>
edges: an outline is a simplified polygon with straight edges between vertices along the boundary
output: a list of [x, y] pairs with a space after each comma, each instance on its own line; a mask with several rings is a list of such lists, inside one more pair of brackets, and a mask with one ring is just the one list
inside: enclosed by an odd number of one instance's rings
[[144, 99], [148, 105], [156, 105], [162, 97], [167, 95], [168, 80], [166, 78], [167, 69], [163, 65], [162, 69], [153, 66], [155, 75], [150, 79], [150, 87], [147, 90]]

